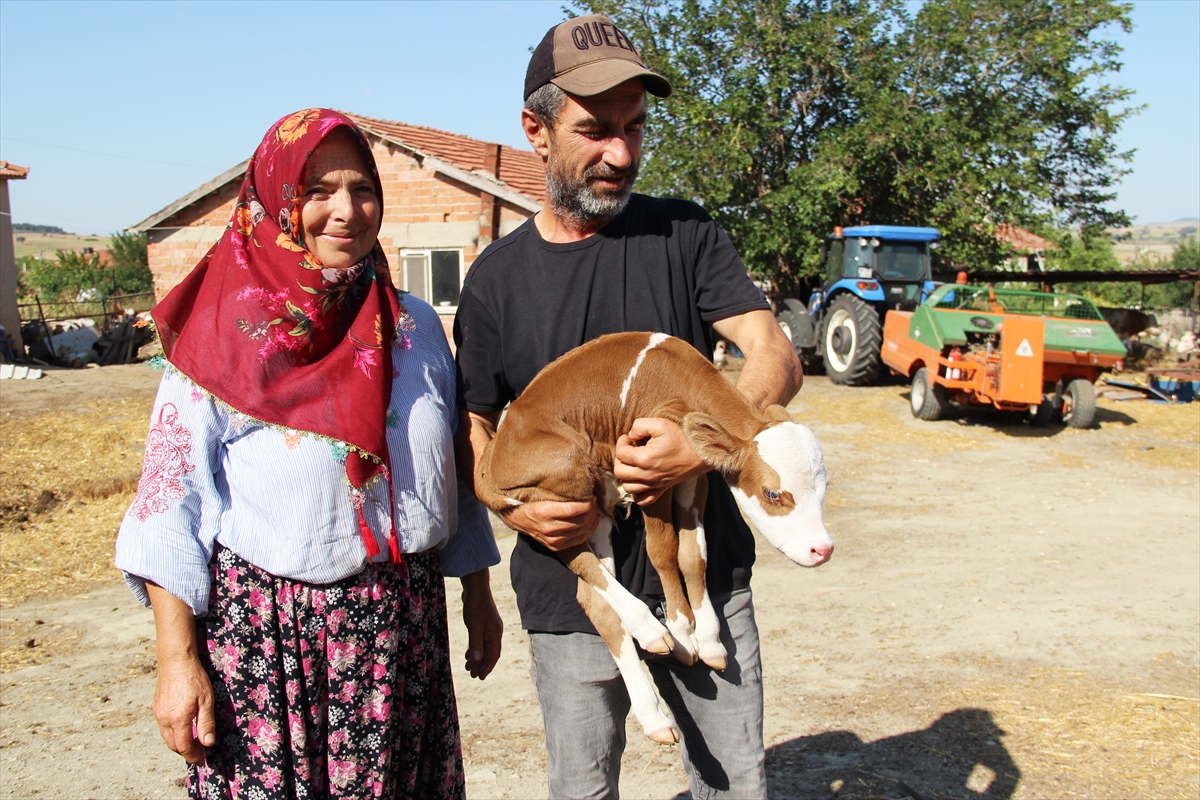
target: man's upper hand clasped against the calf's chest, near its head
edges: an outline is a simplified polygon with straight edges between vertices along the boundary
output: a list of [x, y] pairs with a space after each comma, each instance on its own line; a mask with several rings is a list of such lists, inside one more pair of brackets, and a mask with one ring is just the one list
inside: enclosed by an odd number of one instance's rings
[[708, 470], [688, 444], [683, 428], [661, 417], [634, 420], [634, 427], [613, 449], [613, 475], [640, 506], [654, 503], [670, 487]]

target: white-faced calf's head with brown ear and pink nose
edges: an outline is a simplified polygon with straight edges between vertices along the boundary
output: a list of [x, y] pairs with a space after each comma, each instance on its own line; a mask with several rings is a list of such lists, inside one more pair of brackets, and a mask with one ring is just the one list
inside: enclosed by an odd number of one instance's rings
[[700, 413], [684, 417], [683, 428], [701, 461], [725, 476], [758, 533], [800, 566], [818, 566], [833, 553], [821, 516], [828, 480], [821, 445], [784, 409], [773, 407], [768, 416], [752, 439]]

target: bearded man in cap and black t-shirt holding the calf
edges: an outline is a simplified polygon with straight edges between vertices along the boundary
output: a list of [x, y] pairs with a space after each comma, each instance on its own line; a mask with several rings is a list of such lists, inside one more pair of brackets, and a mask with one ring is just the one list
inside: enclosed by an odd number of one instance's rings
[[[716, 224], [692, 203], [632, 194], [647, 91], [666, 97], [671, 86], [601, 16], [551, 29], [529, 61], [521, 124], [546, 163], [547, 204], [479, 257], [455, 320], [476, 456], [541, 367], [604, 333], [662, 331], [710, 354], [715, 331], [745, 354], [738, 389], [751, 402], [786, 404], [800, 386], [791, 344]], [[638, 505], [707, 471], [679, 427], [661, 419], [637, 420], [616, 456], [617, 477]], [[708, 477], [708, 587], [730, 666], [648, 663], [683, 734], [692, 796], [766, 796], [754, 537], [725, 481]], [[595, 501], [530, 503], [504, 522], [521, 534], [512, 587], [529, 631], [550, 795], [616, 796], [629, 697], [576, 601], [575, 575], [554, 555], [595, 530]], [[618, 519], [618, 578], [661, 615], [643, 543], [638, 511]]]

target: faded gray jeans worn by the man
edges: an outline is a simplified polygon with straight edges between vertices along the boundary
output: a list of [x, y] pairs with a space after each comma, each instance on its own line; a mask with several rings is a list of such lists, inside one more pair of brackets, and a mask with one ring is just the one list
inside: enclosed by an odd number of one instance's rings
[[[674, 658], [647, 662], [683, 734], [695, 800], [766, 798], [762, 663], [750, 590], [713, 597], [725, 672]], [[550, 753], [550, 796], [617, 798], [629, 696], [599, 636], [530, 633], [530, 667]]]

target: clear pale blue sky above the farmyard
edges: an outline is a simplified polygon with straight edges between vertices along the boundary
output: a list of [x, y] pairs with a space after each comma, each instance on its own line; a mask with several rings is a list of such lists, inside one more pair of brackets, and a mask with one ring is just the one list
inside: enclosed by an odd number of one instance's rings
[[[526, 146], [529, 48], [548, 2], [0, 0], [0, 158], [17, 222], [109, 233], [248, 156], [298, 108], [326, 106]], [[1136, 2], [1114, 83], [1148, 108], [1116, 205], [1200, 216], [1200, 1]], [[83, 152], [86, 151], [86, 152]]]

